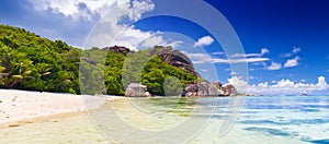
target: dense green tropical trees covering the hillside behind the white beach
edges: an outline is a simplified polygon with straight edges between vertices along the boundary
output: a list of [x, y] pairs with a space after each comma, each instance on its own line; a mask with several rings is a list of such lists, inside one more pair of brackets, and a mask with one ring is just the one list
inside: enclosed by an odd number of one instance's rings
[[151, 94], [164, 95], [196, 79], [151, 56], [150, 49], [129, 53], [109, 48], [81, 50], [0, 25], [0, 88], [124, 95], [128, 83], [140, 82]]

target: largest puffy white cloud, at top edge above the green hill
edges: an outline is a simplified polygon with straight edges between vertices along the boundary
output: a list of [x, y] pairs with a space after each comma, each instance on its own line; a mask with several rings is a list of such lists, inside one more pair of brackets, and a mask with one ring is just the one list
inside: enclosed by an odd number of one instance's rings
[[143, 32], [128, 25], [137, 22], [146, 12], [152, 11], [150, 0], [31, 0], [37, 11], [61, 14], [79, 26], [81, 20], [91, 23], [100, 19], [89, 35], [86, 47], [125, 46], [136, 50], [138, 46], [180, 46], [181, 41], [168, 41], [160, 32]]

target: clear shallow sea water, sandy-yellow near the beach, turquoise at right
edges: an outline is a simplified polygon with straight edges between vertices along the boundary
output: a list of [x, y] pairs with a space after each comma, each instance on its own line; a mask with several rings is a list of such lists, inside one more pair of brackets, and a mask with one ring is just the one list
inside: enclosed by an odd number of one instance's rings
[[[93, 111], [103, 124], [87, 115], [69, 117], [63, 120], [31, 123], [18, 128], [0, 130], [0, 141], [4, 143], [128, 143], [136, 139], [123, 129], [135, 128], [143, 131], [166, 131], [174, 129], [191, 119], [206, 119], [207, 123], [182, 142], [189, 143], [329, 143], [329, 96], [260, 96], [245, 97], [243, 109], [232, 129], [225, 135], [218, 130], [227, 119], [228, 97], [206, 97], [180, 103], [180, 98], [134, 99], [128, 103], [112, 101], [102, 110]], [[132, 103], [133, 101], [133, 103]], [[216, 105], [208, 101], [216, 101]], [[159, 106], [160, 105], [160, 106]], [[129, 128], [116, 123], [109, 124], [111, 119], [103, 117], [106, 107], [111, 106], [112, 115], [117, 116]], [[136, 106], [138, 108], [136, 108]], [[200, 109], [201, 108], [201, 109]], [[93, 116], [93, 115], [91, 115]], [[198, 129], [198, 128], [197, 128]], [[105, 133], [109, 130], [112, 133]], [[177, 131], [180, 136], [184, 131], [194, 131], [195, 127], [184, 127]], [[126, 131], [127, 132], [127, 131]], [[117, 133], [117, 135], [111, 135]], [[174, 133], [174, 132], [173, 132]], [[147, 142], [157, 141], [147, 136]], [[128, 139], [133, 137], [133, 139]], [[166, 136], [164, 136], [166, 137]], [[125, 141], [125, 139], [127, 141]], [[129, 141], [128, 141], [129, 140]], [[138, 143], [139, 141], [135, 141]], [[175, 141], [173, 141], [175, 142]], [[177, 141], [179, 142], [179, 141]]]

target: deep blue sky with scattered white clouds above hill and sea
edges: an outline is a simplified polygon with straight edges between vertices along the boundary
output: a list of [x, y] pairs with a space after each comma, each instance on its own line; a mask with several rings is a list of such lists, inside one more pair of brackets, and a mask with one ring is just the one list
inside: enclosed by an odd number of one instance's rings
[[[175, 7], [192, 5], [195, 9], [191, 9], [191, 13], [208, 12], [201, 10], [200, 2], [207, 2], [220, 12], [238, 35], [245, 53], [228, 56], [212, 32], [188, 19], [170, 15], [144, 19], [163, 4], [175, 8], [174, 1], [2, 0], [0, 23], [80, 48], [112, 44], [132, 49], [173, 46], [190, 56], [207, 80], [248, 85], [249, 93], [329, 94], [326, 82], [329, 77], [329, 1], [182, 2], [185, 3]], [[207, 23], [217, 22], [212, 20], [212, 14], [206, 17]], [[227, 61], [228, 57], [235, 62]], [[230, 64], [239, 63], [242, 58], [248, 62], [248, 84], [230, 69]]]

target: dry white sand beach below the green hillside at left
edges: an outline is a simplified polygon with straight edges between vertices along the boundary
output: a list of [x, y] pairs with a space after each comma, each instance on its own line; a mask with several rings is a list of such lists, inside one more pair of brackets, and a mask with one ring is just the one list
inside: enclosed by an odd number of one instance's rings
[[121, 97], [0, 89], [0, 128], [19, 127], [78, 115], [86, 112], [87, 100], [88, 109], [97, 109], [106, 100], [115, 98]]

